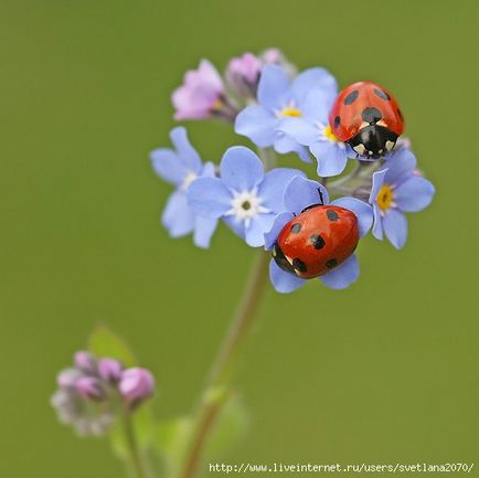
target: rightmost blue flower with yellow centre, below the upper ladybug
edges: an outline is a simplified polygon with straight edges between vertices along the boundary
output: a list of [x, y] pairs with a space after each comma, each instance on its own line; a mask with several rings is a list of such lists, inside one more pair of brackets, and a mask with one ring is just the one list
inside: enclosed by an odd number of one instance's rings
[[394, 247], [407, 238], [405, 212], [417, 212], [429, 205], [434, 185], [416, 171], [416, 158], [408, 149], [393, 151], [384, 168], [373, 174], [370, 203], [374, 212], [374, 237], [385, 234]]

